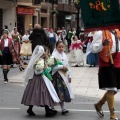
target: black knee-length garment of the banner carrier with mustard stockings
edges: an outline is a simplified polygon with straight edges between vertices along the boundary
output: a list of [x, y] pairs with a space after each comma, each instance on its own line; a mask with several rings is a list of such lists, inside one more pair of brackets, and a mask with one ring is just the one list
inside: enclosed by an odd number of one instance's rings
[[120, 68], [102, 67], [98, 73], [99, 88], [104, 90], [120, 90]]

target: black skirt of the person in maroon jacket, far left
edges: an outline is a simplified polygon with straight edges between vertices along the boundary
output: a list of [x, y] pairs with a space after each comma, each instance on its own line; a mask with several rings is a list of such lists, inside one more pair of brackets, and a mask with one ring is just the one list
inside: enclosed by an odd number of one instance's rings
[[0, 56], [0, 65], [11, 65], [12, 64], [12, 55], [10, 53], [3, 53]]

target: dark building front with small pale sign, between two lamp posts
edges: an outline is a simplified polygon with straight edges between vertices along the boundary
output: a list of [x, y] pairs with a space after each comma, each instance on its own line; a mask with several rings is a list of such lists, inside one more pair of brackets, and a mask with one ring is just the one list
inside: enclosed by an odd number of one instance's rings
[[73, 0], [59, 0], [57, 10], [59, 11], [57, 15], [57, 27], [65, 27], [66, 30], [76, 27], [77, 11]]

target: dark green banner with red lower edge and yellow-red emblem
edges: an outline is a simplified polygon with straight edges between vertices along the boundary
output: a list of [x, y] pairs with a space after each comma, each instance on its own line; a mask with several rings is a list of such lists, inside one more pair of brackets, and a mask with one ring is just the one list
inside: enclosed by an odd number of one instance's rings
[[86, 31], [120, 28], [118, 0], [80, 0]]

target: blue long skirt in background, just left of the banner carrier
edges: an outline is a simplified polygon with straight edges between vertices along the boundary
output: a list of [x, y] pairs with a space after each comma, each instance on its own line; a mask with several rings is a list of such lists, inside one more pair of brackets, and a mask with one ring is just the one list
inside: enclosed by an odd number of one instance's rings
[[98, 65], [98, 54], [89, 53], [87, 55], [87, 64], [89, 64], [89, 65]]

